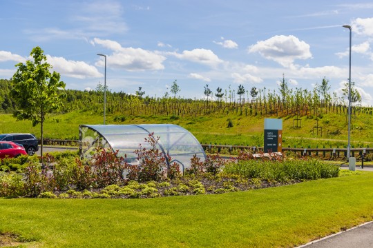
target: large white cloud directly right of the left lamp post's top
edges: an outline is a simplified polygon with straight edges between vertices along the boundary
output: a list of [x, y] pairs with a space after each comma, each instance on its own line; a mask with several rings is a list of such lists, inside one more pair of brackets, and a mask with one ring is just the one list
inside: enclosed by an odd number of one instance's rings
[[[120, 68], [128, 71], [163, 70], [165, 56], [157, 52], [151, 52], [142, 48], [122, 48], [116, 41], [102, 40], [95, 38], [91, 41], [93, 45], [102, 45], [104, 48], [113, 51], [107, 55], [106, 63], [113, 68]], [[97, 66], [104, 66], [104, 60], [96, 63]]]

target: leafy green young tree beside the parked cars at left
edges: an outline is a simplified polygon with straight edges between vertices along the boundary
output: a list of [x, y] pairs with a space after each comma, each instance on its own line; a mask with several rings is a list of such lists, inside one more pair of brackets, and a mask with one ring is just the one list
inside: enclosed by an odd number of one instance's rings
[[17, 103], [14, 116], [17, 120], [28, 119], [32, 125], [40, 123], [41, 156], [43, 155], [43, 124], [46, 115], [59, 110], [63, 105], [61, 90], [65, 83], [59, 81], [59, 73], [50, 72], [52, 66], [46, 62], [44, 51], [39, 47], [32, 49], [30, 56], [34, 61], [18, 63], [12, 77], [12, 97]]

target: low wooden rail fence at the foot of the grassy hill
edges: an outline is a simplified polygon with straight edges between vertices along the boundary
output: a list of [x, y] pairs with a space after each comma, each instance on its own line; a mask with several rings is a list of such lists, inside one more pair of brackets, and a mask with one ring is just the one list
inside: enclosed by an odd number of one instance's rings
[[[63, 140], [63, 139], [44, 139], [44, 145], [61, 145], [61, 146], [79, 146], [79, 140]], [[212, 145], [202, 144], [205, 152], [209, 153], [226, 153], [229, 154], [238, 152], [240, 150], [251, 150], [252, 152], [263, 152], [263, 147], [247, 146], [247, 145]], [[300, 156], [322, 156], [340, 158], [341, 156], [347, 157], [347, 148], [296, 148], [296, 147], [283, 147], [283, 152], [291, 152]], [[362, 156], [373, 152], [373, 147], [358, 147], [350, 149], [350, 156]]]

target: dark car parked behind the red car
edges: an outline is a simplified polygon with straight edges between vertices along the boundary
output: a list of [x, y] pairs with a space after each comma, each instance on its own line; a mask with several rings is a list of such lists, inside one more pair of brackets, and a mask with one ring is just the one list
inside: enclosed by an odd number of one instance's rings
[[21, 144], [28, 155], [34, 155], [39, 150], [39, 141], [34, 134], [0, 134], [0, 141], [12, 141]]

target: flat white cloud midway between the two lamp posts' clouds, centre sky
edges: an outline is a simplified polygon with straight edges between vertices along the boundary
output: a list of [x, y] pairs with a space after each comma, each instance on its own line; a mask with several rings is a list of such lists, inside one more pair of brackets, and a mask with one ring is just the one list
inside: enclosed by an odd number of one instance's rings
[[213, 53], [213, 51], [203, 48], [196, 48], [191, 51], [184, 50], [182, 54], [179, 54], [177, 52], [170, 52], [168, 54], [176, 56], [178, 59], [185, 59], [209, 66], [216, 66], [219, 63], [223, 62], [216, 54]]

